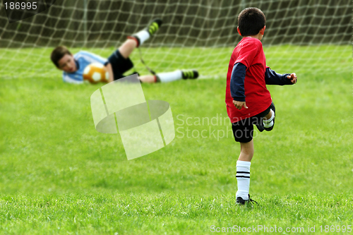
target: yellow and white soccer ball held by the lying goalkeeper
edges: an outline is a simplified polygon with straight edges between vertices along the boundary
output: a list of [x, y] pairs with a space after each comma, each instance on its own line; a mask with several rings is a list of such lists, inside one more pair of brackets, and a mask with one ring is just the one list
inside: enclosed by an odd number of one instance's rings
[[88, 80], [90, 83], [108, 83], [109, 73], [104, 65], [92, 63], [83, 70], [83, 80]]

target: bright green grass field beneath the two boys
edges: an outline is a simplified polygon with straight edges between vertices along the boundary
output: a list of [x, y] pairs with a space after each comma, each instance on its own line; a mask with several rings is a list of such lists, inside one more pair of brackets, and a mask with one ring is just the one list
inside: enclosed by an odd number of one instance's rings
[[[182, 49], [166, 50], [174, 52], [172, 61]], [[32, 66], [29, 51], [42, 55]], [[297, 72], [299, 82], [268, 87], [277, 118], [273, 131], [257, 132], [254, 139], [250, 193], [259, 205], [239, 206], [239, 144], [229, 131], [225, 75], [143, 84], [146, 100], [171, 105], [176, 138], [162, 150], [127, 161], [119, 134], [95, 131], [90, 95], [102, 84], [62, 83], [44, 56], [49, 49], [0, 49], [0, 64], [12, 68], [0, 79], [0, 234], [227, 234], [215, 229], [261, 225], [269, 231], [247, 233], [274, 234], [270, 228], [276, 227], [282, 229], [277, 234], [309, 234], [315, 226], [311, 234], [349, 234], [351, 47], [294, 47], [295, 58], [288, 59], [283, 55], [289, 51], [265, 49], [271, 68]], [[342, 58], [330, 63], [335, 56], [330, 52], [337, 51]], [[226, 72], [229, 49], [218, 53]], [[13, 54], [27, 62], [16, 67], [16, 60], [6, 61]], [[37, 71], [52, 72], [37, 76]]]

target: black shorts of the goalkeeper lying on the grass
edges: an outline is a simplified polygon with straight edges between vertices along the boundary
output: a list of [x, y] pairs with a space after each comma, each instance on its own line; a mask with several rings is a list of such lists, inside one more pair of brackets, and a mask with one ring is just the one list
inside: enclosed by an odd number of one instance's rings
[[131, 59], [125, 59], [124, 56], [121, 56], [119, 49], [117, 49], [111, 56], [109, 56], [107, 64], [108, 63], [112, 64], [114, 80], [124, 78], [123, 74], [129, 69], [133, 68], [133, 62]]

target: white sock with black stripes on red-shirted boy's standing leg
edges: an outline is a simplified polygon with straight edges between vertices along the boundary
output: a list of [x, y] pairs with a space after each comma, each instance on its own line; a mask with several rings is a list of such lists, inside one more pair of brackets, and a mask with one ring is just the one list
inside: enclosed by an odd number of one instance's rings
[[241, 197], [244, 200], [249, 200], [250, 165], [251, 162], [237, 161], [238, 191], [236, 198]]

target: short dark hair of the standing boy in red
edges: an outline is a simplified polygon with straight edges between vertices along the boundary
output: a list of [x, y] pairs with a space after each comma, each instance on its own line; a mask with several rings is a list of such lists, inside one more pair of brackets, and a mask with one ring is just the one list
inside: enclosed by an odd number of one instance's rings
[[238, 26], [243, 37], [257, 35], [265, 25], [265, 14], [259, 8], [245, 8], [239, 13]]

